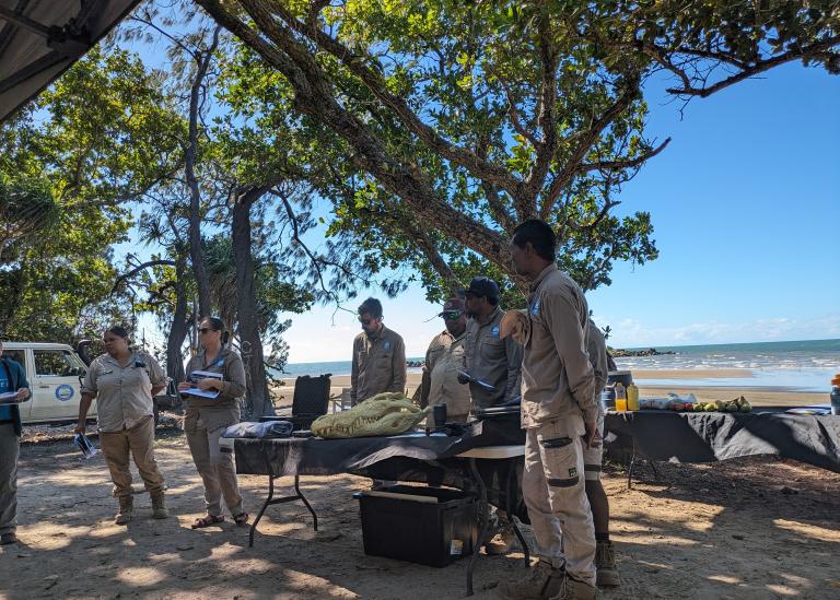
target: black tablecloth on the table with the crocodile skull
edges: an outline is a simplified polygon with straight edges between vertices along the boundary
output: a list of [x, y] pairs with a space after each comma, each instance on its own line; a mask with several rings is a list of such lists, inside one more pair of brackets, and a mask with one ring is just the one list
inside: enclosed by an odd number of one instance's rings
[[[524, 445], [525, 433], [515, 419], [481, 421], [463, 436], [424, 434], [349, 439], [278, 438], [236, 439], [236, 472], [259, 475], [330, 475], [352, 473], [362, 477], [447, 485], [475, 491], [468, 462], [456, 458], [472, 448]], [[527, 522], [522, 501], [523, 457], [505, 460], [477, 460], [488, 501], [506, 508], [506, 484], [511, 481], [512, 513]]]

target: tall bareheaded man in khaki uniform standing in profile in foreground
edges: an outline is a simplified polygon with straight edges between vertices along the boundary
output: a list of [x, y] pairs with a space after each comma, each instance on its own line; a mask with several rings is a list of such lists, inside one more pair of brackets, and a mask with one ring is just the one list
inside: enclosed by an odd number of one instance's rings
[[598, 407], [586, 354], [588, 307], [578, 284], [558, 270], [556, 245], [542, 221], [525, 221], [513, 233], [513, 264], [532, 282], [522, 363], [522, 493], [540, 561], [529, 577], [500, 591], [508, 598], [588, 600], [597, 588], [583, 439], [595, 436]]

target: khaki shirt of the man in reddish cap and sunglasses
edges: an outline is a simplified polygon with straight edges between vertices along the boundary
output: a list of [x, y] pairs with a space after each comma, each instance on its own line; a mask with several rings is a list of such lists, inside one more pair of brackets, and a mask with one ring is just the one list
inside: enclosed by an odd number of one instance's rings
[[[447, 416], [466, 421], [469, 414], [469, 388], [458, 383], [458, 369], [464, 366], [466, 332], [455, 338], [448, 331], [435, 336], [425, 352], [420, 407], [446, 404]], [[447, 419], [448, 420], [448, 419]]]

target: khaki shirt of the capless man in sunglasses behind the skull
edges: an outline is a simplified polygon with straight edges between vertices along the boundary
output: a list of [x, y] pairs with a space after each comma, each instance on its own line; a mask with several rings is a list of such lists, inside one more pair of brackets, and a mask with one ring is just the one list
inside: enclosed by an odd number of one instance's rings
[[406, 389], [406, 344], [397, 333], [382, 326], [369, 338], [362, 331], [353, 340], [350, 401], [353, 405], [383, 391]]

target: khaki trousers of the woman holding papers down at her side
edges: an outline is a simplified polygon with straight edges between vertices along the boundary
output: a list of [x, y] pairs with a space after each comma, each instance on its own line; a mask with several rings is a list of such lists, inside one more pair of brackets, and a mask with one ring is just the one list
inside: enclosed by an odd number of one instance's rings
[[154, 461], [154, 417], [147, 416], [130, 430], [100, 432], [100, 445], [114, 482], [114, 497], [131, 497], [129, 452], [150, 496], [163, 493], [163, 475]]

